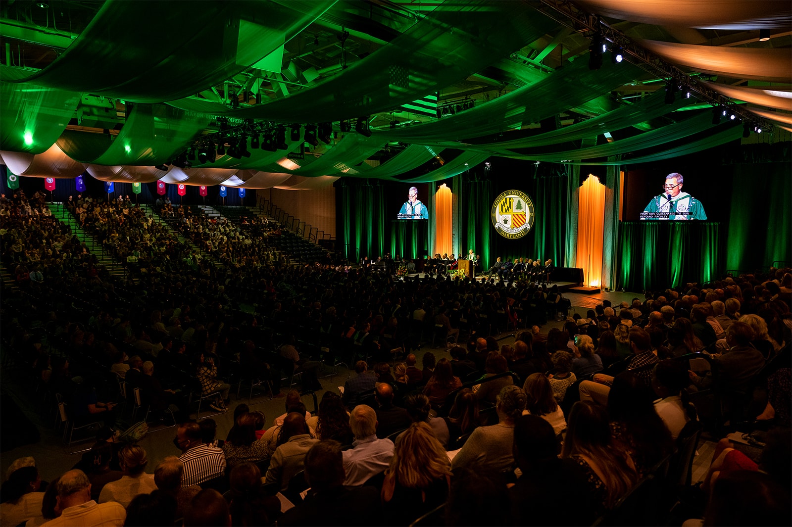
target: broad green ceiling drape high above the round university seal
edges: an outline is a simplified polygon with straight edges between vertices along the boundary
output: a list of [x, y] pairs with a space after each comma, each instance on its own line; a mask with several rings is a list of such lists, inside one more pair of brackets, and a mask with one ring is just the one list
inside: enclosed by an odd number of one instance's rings
[[[614, 65], [607, 61], [600, 70], [592, 71], [585, 60], [576, 60], [542, 81], [478, 104], [475, 108], [429, 123], [375, 131], [373, 135], [391, 141], [453, 148], [458, 146], [458, 139], [497, 134], [557, 115], [623, 85], [636, 74], [638, 67], [632, 64]], [[449, 141], [448, 138], [455, 140]]]

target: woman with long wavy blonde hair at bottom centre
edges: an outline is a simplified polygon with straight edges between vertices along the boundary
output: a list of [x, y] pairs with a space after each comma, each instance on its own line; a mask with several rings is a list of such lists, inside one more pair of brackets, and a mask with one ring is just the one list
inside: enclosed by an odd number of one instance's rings
[[391, 525], [409, 525], [445, 502], [451, 462], [427, 423], [413, 423], [396, 442], [381, 497]]

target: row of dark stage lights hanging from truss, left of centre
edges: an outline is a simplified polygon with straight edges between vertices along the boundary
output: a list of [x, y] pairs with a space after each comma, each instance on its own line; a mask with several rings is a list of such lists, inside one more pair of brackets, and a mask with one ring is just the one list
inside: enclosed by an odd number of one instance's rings
[[[351, 119], [342, 120], [339, 124], [342, 132], [352, 131]], [[355, 119], [354, 127], [359, 134], [366, 137], [371, 136], [368, 116]], [[303, 129], [302, 132], [301, 128]], [[223, 155], [228, 155], [235, 159], [250, 157], [250, 149], [261, 149], [267, 152], [290, 150], [291, 147], [286, 142], [287, 129], [292, 143], [299, 142], [300, 138], [303, 139], [303, 142], [300, 143], [301, 147], [306, 142], [310, 146], [319, 146], [319, 141], [329, 144], [333, 140], [335, 133], [333, 131], [333, 123], [291, 124], [288, 126], [283, 124], [273, 125], [272, 123], [246, 123], [239, 127], [227, 128], [227, 121], [221, 121], [219, 131], [200, 138], [187, 150], [166, 163], [166, 165], [188, 169], [196, 161], [200, 165], [204, 165], [207, 161], [214, 163], [218, 156]], [[155, 168], [167, 172], [169, 167], [166, 165], [157, 165]]]

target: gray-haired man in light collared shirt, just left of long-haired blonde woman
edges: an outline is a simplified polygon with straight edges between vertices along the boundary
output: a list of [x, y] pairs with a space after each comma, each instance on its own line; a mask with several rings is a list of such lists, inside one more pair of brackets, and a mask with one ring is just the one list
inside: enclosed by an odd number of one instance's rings
[[358, 404], [352, 410], [349, 427], [355, 434], [355, 441], [351, 449], [343, 452], [344, 484], [362, 485], [388, 468], [394, 457], [394, 443], [390, 439], [377, 438], [377, 414], [367, 404]]

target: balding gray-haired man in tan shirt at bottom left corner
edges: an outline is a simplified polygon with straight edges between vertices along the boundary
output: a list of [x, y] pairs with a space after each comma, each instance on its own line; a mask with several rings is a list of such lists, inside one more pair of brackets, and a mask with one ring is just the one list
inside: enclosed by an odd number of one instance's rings
[[59, 518], [45, 522], [48, 527], [96, 527], [124, 525], [127, 511], [117, 502], [97, 503], [91, 499], [91, 483], [82, 470], [63, 474], [55, 487], [58, 491]]

